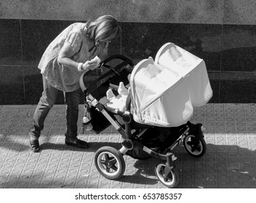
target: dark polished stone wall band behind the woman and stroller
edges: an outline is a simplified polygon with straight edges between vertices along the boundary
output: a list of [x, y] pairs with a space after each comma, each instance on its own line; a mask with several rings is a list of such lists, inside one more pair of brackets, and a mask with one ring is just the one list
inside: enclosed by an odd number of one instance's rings
[[[41, 55], [72, 22], [0, 19], [0, 104], [37, 104]], [[110, 54], [125, 54], [139, 62], [173, 42], [205, 60], [214, 92], [209, 102], [256, 101], [256, 25], [121, 22], [121, 28]], [[57, 104], [63, 104], [62, 94]]]

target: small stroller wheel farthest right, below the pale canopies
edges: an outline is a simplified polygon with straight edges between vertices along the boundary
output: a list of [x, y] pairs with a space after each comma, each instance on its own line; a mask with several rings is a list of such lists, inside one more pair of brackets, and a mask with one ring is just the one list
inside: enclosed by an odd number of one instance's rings
[[193, 135], [188, 135], [184, 138], [183, 144], [185, 150], [193, 157], [201, 157], [207, 150], [207, 144], [204, 138], [197, 138]]

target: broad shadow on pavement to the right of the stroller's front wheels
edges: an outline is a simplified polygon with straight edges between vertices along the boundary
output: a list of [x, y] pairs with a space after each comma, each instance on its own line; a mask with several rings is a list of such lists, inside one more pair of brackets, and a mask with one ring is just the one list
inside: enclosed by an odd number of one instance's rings
[[207, 144], [203, 157], [175, 153], [178, 188], [256, 188], [256, 153], [236, 145]]

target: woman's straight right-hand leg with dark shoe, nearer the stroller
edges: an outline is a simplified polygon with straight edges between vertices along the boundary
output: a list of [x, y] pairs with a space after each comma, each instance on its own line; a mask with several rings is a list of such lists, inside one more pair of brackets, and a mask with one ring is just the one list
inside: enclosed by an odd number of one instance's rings
[[77, 138], [77, 121], [79, 118], [79, 99], [81, 90], [65, 92], [67, 132], [65, 133], [65, 144], [71, 144], [81, 148], [88, 148], [86, 141]]

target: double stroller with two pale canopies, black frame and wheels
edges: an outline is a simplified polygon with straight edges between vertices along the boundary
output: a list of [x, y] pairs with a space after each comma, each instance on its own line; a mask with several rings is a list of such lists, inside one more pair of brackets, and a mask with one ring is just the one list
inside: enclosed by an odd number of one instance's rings
[[[95, 153], [95, 166], [101, 175], [117, 180], [124, 175], [124, 155], [135, 159], [159, 159], [156, 177], [164, 186], [173, 188], [179, 175], [173, 149], [183, 143], [193, 157], [207, 150], [203, 126], [189, 119], [193, 107], [204, 105], [212, 97], [207, 70], [202, 59], [166, 43], [156, 59], [132, 59], [116, 54], [99, 68], [81, 75], [84, 92], [84, 116], [89, 117], [96, 133], [113, 125], [122, 136], [120, 149], [103, 146]], [[118, 97], [120, 83], [129, 88], [123, 108], [110, 106], [106, 92]], [[85, 125], [86, 124], [86, 125]], [[84, 123], [87, 126], [87, 123]]]

